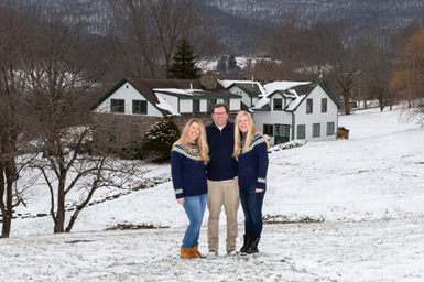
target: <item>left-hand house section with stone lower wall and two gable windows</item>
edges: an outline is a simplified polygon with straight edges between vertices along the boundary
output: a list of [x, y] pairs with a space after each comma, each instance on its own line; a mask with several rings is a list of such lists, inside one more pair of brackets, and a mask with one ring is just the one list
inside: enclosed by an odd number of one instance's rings
[[182, 130], [193, 117], [209, 124], [210, 108], [227, 104], [231, 116], [240, 110], [241, 96], [217, 84], [214, 77], [195, 80], [124, 78], [91, 107], [101, 124], [96, 142], [110, 150], [137, 151], [152, 124], [172, 119]]

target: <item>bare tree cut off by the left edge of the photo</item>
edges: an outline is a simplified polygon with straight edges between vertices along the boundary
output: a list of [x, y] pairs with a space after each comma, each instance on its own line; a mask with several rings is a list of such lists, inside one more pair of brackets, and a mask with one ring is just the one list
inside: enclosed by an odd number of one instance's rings
[[[24, 141], [25, 116], [22, 107], [25, 80], [21, 61], [26, 53], [31, 34], [31, 14], [10, 4], [0, 7], [0, 209], [1, 237], [10, 236], [13, 208], [22, 200], [17, 186], [21, 164], [17, 161]], [[28, 11], [26, 11], [28, 12]]]

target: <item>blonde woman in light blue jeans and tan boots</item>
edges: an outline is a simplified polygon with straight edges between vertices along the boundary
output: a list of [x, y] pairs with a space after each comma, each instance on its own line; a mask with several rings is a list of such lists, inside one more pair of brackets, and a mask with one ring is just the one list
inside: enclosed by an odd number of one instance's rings
[[196, 118], [188, 120], [171, 151], [171, 173], [175, 197], [184, 207], [189, 220], [180, 249], [183, 259], [202, 257], [198, 251], [198, 238], [206, 208], [208, 153], [209, 148], [202, 120]]

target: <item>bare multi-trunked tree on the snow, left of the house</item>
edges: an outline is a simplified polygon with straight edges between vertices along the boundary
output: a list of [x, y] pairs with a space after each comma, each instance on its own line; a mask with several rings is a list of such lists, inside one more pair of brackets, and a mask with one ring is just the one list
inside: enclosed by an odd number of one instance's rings
[[[128, 169], [90, 145], [98, 123], [91, 121], [87, 101], [104, 69], [94, 68], [86, 59], [89, 46], [84, 36], [84, 24], [52, 18], [37, 29], [24, 61], [29, 84], [25, 106], [34, 121], [31, 143], [39, 152], [31, 167], [41, 172], [48, 187], [54, 232], [70, 231], [99, 187], [122, 186], [126, 177], [110, 172]], [[78, 193], [80, 200], [66, 226], [65, 206], [73, 193]]]

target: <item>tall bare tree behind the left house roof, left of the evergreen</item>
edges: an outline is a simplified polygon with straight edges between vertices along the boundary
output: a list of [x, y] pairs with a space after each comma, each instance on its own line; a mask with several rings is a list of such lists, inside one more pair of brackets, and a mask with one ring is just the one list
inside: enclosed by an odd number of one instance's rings
[[[177, 44], [187, 39], [196, 54], [211, 52], [211, 21], [194, 0], [109, 1], [115, 11], [117, 63], [140, 77], [163, 78]], [[203, 52], [199, 52], [203, 51]]]

